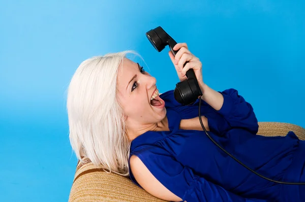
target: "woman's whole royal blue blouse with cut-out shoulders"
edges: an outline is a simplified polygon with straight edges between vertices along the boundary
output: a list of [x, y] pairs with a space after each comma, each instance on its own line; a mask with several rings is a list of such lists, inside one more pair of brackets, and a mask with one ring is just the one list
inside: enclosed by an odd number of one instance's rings
[[[273, 180], [287, 181], [301, 141], [292, 131], [285, 137], [258, 135], [252, 106], [235, 89], [221, 93], [224, 104], [219, 111], [201, 100], [201, 115], [208, 120], [208, 134], [252, 170]], [[296, 185], [284, 186], [253, 174], [212, 143], [204, 131], [179, 129], [181, 119], [198, 117], [199, 99], [190, 106], [182, 106], [174, 99], [173, 90], [160, 97], [165, 101], [170, 131], [141, 134], [132, 141], [130, 156], [138, 156], [167, 189], [188, 202], [298, 201]], [[296, 171], [302, 165], [293, 166]], [[297, 171], [290, 172], [294, 173], [290, 181], [300, 179], [302, 170]], [[130, 178], [141, 187], [131, 170]]]

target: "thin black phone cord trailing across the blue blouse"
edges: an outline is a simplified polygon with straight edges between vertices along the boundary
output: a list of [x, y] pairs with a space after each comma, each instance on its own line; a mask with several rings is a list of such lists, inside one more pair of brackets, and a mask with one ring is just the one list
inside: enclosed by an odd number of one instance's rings
[[281, 181], [276, 181], [276, 180], [272, 180], [272, 179], [269, 179], [269, 178], [266, 178], [265, 176], [262, 176], [260, 175], [259, 173], [253, 171], [252, 169], [250, 169], [250, 167], [248, 167], [247, 165], [243, 164], [242, 162], [240, 162], [238, 159], [236, 159], [234, 156], [232, 156], [229, 152], [227, 152], [225, 149], [223, 149], [219, 144], [217, 144], [217, 142], [215, 142], [210, 136], [209, 134], [207, 133], [203, 123], [202, 123], [202, 120], [201, 120], [201, 114], [200, 114], [200, 108], [201, 108], [201, 97], [199, 97], [199, 121], [200, 121], [200, 124], [201, 124], [201, 127], [203, 128], [203, 130], [205, 131], [207, 137], [214, 143], [216, 144], [221, 150], [223, 150], [226, 154], [228, 154], [231, 158], [233, 158], [235, 161], [237, 161], [238, 163], [240, 163], [242, 166], [246, 167], [246, 169], [248, 169], [249, 171], [251, 171], [252, 173], [258, 175], [259, 177], [261, 178], [264, 178], [266, 180], [269, 180], [271, 182], [276, 182], [276, 183], [279, 183], [279, 184], [289, 184], [289, 185], [305, 185], [305, 183], [303, 182], [281, 182]]

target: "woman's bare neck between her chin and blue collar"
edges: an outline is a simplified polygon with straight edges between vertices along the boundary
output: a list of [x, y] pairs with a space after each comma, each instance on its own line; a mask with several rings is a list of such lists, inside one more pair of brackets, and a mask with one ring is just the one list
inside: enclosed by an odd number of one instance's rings
[[130, 141], [133, 141], [147, 131], [169, 131], [167, 116], [162, 121], [149, 124], [127, 124], [127, 134]]

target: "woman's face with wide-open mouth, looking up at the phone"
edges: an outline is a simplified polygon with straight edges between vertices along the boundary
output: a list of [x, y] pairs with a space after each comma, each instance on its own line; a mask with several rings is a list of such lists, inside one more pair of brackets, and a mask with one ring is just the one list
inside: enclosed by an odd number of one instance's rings
[[124, 59], [123, 68], [118, 69], [117, 90], [118, 102], [123, 108], [127, 126], [143, 129], [160, 122], [166, 116], [165, 103], [157, 95], [159, 91], [156, 79], [138, 63]]

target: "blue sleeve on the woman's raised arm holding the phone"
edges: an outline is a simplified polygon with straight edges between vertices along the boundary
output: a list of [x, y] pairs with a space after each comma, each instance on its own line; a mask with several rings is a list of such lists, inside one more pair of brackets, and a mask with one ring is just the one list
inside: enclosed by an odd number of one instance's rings
[[[201, 100], [200, 112], [208, 119], [210, 131], [222, 134], [231, 128], [243, 128], [256, 134], [258, 131], [258, 121], [250, 103], [238, 94], [238, 91], [230, 88], [220, 92], [224, 97], [224, 103], [219, 111], [209, 106]], [[182, 119], [198, 117], [199, 98], [189, 106], [182, 106], [176, 102], [173, 94], [167, 92], [164, 97], [168, 102], [168, 107], [175, 108]], [[221, 116], [219, 116], [221, 115]]]

